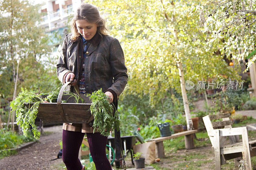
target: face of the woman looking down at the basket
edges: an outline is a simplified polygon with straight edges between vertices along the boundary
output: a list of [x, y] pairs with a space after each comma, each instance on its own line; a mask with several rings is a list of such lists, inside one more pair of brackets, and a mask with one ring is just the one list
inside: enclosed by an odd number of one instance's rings
[[91, 24], [84, 19], [76, 21], [76, 28], [85, 40], [91, 40], [97, 32], [97, 24]]

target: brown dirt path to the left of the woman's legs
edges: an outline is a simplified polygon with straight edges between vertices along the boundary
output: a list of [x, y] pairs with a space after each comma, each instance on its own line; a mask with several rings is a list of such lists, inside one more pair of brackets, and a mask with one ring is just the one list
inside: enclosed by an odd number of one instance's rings
[[62, 140], [62, 126], [45, 127], [44, 131], [52, 132], [47, 136], [41, 136], [39, 142], [22, 149], [16, 155], [0, 160], [0, 170], [35, 170], [53, 169], [54, 164], [62, 163], [57, 158]]

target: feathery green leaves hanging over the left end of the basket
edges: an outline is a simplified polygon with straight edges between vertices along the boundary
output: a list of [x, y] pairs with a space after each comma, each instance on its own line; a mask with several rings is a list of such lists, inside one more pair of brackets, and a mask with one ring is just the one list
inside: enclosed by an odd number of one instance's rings
[[[21, 130], [23, 131], [24, 136], [28, 136], [28, 132], [30, 126], [32, 127], [32, 132], [36, 139], [39, 139], [40, 132], [36, 129], [35, 119], [37, 115], [37, 108], [39, 107], [39, 103], [43, 102], [43, 99], [40, 95], [37, 95], [32, 92], [28, 92], [28, 90], [21, 87], [21, 92], [18, 97], [15, 98], [10, 104], [12, 110], [16, 111], [16, 121], [17, 124], [20, 124]], [[25, 104], [34, 103], [32, 107], [27, 108]], [[32, 105], [32, 104], [30, 104]]]

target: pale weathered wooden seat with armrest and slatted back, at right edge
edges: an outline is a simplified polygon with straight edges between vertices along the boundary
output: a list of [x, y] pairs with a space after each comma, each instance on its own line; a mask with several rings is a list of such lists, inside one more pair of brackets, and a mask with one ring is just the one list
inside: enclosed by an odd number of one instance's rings
[[[232, 128], [233, 122], [229, 119], [230, 113], [207, 115], [203, 117], [205, 128], [214, 149], [216, 170], [226, 164], [226, 160], [235, 159], [235, 166], [239, 165], [241, 157], [246, 161], [246, 169], [252, 169], [251, 157], [256, 156], [256, 140], [249, 141], [247, 127]], [[214, 122], [213, 120], [222, 121]], [[218, 129], [224, 127], [224, 129]], [[242, 135], [242, 142], [239, 136]], [[228, 138], [229, 144], [226, 140]]]

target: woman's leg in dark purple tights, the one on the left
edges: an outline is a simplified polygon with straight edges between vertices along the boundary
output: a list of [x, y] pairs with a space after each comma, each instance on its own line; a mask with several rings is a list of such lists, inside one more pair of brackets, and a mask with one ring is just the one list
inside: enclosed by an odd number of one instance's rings
[[84, 134], [82, 132], [62, 131], [62, 160], [67, 170], [81, 170], [82, 164], [78, 159], [78, 153]]

